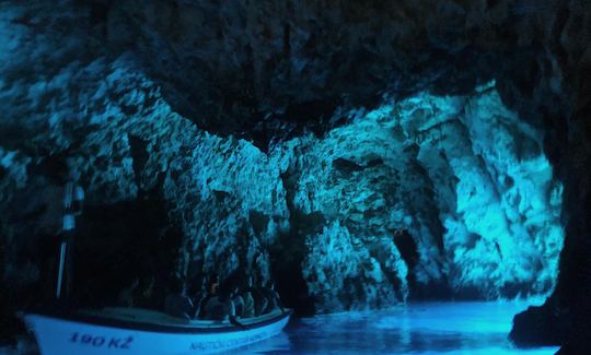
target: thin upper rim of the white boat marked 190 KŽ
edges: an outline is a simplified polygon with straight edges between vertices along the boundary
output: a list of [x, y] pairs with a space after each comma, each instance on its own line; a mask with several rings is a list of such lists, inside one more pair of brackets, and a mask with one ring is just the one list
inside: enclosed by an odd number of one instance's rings
[[222, 327], [202, 327], [192, 323], [185, 324], [162, 324], [162, 323], [150, 323], [147, 321], [132, 321], [124, 320], [101, 316], [84, 315], [78, 311], [33, 311], [27, 312], [26, 316], [38, 316], [45, 318], [53, 318], [61, 321], [71, 321], [78, 323], [85, 323], [88, 326], [96, 327], [107, 327], [107, 328], [119, 328], [125, 330], [136, 330], [136, 331], [147, 331], [155, 333], [175, 333], [175, 334], [211, 334], [211, 333], [235, 333], [250, 331], [266, 326], [277, 323], [285, 318], [289, 318], [293, 313], [292, 309], [287, 309], [285, 312], [278, 313], [275, 317], [262, 320], [259, 322], [253, 322], [244, 324], [246, 328], [240, 328], [233, 324], [222, 326]]

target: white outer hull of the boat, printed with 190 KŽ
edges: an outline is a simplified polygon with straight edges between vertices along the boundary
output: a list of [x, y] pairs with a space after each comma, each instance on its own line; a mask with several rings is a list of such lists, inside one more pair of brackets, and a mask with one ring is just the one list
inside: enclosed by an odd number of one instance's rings
[[200, 332], [197, 328], [170, 331], [138, 330], [134, 327], [93, 324], [46, 315], [26, 315], [39, 351], [54, 354], [210, 354], [237, 348], [277, 335], [289, 315], [246, 330]]

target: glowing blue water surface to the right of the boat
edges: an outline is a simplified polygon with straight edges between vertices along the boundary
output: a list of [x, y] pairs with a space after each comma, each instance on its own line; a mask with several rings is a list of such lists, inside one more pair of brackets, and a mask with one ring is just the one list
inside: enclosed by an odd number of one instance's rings
[[508, 341], [513, 316], [528, 306], [429, 303], [293, 319], [282, 334], [231, 354], [554, 354]]

